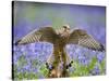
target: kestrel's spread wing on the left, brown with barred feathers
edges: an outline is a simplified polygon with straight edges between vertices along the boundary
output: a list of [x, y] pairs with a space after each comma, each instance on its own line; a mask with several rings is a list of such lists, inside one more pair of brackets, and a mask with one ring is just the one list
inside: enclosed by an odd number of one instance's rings
[[53, 40], [56, 39], [57, 33], [53, 30], [52, 27], [45, 27], [40, 28], [39, 30], [34, 30], [20, 39], [15, 44], [27, 44], [27, 43], [34, 43], [38, 41], [46, 41], [53, 43]]

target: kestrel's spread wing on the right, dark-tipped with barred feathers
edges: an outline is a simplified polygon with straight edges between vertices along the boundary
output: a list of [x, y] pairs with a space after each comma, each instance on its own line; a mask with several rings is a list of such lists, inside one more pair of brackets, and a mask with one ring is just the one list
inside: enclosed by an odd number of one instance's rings
[[87, 32], [82, 29], [76, 29], [71, 32], [68, 43], [78, 44], [92, 50], [105, 50], [101, 43], [97, 42], [93, 37], [87, 35]]

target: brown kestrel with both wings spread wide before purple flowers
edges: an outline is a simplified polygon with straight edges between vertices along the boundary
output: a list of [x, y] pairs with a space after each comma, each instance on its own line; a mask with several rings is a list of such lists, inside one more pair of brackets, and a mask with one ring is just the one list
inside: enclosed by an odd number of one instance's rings
[[[85, 30], [75, 29], [73, 31], [70, 30], [69, 25], [62, 26], [60, 30], [55, 30], [52, 27], [44, 27], [40, 29], [36, 29], [22, 39], [20, 39], [15, 44], [27, 44], [34, 42], [49, 42], [53, 44], [53, 57], [55, 60], [52, 63], [52, 69], [50, 71], [49, 77], [66, 77], [66, 60], [68, 55], [64, 51], [66, 44], [78, 44], [81, 46], [104, 51], [105, 48], [101, 43], [96, 41], [92, 36], [89, 36]], [[58, 69], [58, 66], [62, 62], [63, 70], [61, 72]]]

